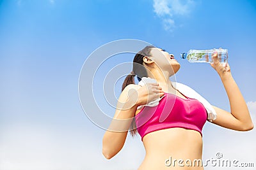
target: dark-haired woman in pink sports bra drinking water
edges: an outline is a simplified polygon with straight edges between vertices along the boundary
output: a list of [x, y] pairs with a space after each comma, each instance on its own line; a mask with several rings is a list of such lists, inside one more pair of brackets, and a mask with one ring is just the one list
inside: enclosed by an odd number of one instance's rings
[[[249, 131], [253, 129], [253, 123], [246, 103], [232, 78], [230, 67], [228, 64], [223, 66], [216, 59], [217, 56], [217, 53], [212, 56], [214, 63], [211, 66], [220, 75], [230, 101], [231, 113], [212, 106], [217, 113], [212, 123], [236, 131]], [[189, 162], [185, 162], [202, 160], [202, 127], [207, 120], [207, 112], [199, 101], [184, 96], [173, 87], [169, 78], [179, 68], [180, 64], [174, 56], [161, 48], [146, 46], [135, 55], [132, 72], [125, 78], [116, 113], [109, 126], [110, 131], [106, 131], [102, 139], [102, 153], [106, 159], [111, 159], [122, 149], [130, 127], [132, 136], [140, 133], [145, 146], [146, 155], [140, 170], [204, 169], [198, 165], [188, 166]], [[147, 86], [141, 87], [134, 84], [134, 76], [138, 76], [138, 80], [144, 76], [154, 78], [157, 83], [147, 83]], [[152, 107], [138, 107], [157, 97], [163, 99], [154, 108], [154, 113], [150, 112]], [[163, 106], [168, 107], [168, 104], [173, 105], [169, 110], [170, 115], [164, 122], [157, 122]], [[191, 114], [190, 120], [188, 114]], [[179, 120], [178, 123], [175, 123], [175, 118]], [[145, 119], [147, 121], [143, 122]], [[191, 120], [193, 122], [189, 122]], [[172, 162], [170, 166], [170, 161], [175, 159], [184, 162], [174, 162], [175, 165]]]

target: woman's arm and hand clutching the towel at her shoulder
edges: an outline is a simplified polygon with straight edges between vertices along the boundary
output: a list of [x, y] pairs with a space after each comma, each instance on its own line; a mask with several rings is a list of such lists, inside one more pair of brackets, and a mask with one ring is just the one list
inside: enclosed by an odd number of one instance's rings
[[113, 120], [102, 139], [102, 153], [106, 159], [114, 157], [124, 146], [137, 107], [163, 95], [164, 92], [157, 83], [147, 83], [143, 87], [132, 84], [125, 87], [116, 104]]

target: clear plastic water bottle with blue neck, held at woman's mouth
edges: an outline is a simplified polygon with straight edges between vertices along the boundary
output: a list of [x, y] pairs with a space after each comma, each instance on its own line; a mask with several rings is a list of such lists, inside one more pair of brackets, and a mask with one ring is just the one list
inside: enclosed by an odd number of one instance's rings
[[211, 50], [189, 50], [188, 53], [181, 53], [182, 59], [188, 59], [189, 62], [207, 62], [213, 63], [212, 55], [214, 52], [218, 52], [218, 60], [221, 64], [227, 63], [228, 50], [227, 49], [211, 49]]

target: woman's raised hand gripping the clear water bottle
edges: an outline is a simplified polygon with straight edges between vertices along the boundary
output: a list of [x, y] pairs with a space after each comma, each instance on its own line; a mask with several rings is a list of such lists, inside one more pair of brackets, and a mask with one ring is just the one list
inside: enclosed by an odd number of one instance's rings
[[210, 64], [220, 76], [231, 74], [230, 66], [228, 65], [228, 62], [221, 64], [220, 60], [218, 60], [218, 52], [215, 51], [213, 53], [212, 60], [213, 60], [213, 63], [210, 63]]

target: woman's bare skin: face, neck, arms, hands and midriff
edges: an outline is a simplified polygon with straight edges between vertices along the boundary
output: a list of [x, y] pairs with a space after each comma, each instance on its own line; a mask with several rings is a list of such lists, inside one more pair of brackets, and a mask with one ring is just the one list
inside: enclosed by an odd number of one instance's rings
[[[106, 159], [111, 159], [120, 152], [124, 146], [127, 132], [131, 125], [131, 118], [138, 114], [137, 107], [153, 101], [157, 97], [164, 95], [163, 92], [175, 94], [186, 99], [179, 91], [172, 87], [170, 76], [177, 73], [180, 68], [177, 60], [170, 59], [172, 54], [164, 52], [161, 48], [152, 48], [151, 56], [143, 57], [143, 65], [147, 67], [148, 76], [157, 80], [157, 83], [147, 83], [147, 86], [128, 85], [118, 99], [113, 122], [109, 125], [102, 139], [102, 153]], [[252, 119], [248, 111], [246, 102], [237, 87], [236, 81], [232, 78], [230, 66], [223, 66], [217, 60], [218, 54], [213, 55], [214, 63], [211, 67], [219, 74], [223, 86], [227, 92], [230, 102], [230, 112], [213, 106], [217, 117], [211, 123], [220, 125], [227, 129], [236, 131], [250, 131], [253, 129]], [[189, 159], [202, 160], [202, 137], [200, 133], [191, 129], [172, 127], [160, 131], [150, 132], [143, 138], [145, 146], [145, 159], [141, 163], [139, 170], [150, 169], [204, 169], [202, 166], [186, 166], [185, 162], [178, 160]], [[170, 156], [176, 159], [175, 166], [166, 166], [166, 159]], [[204, 163], [204, 162], [203, 162]]]

